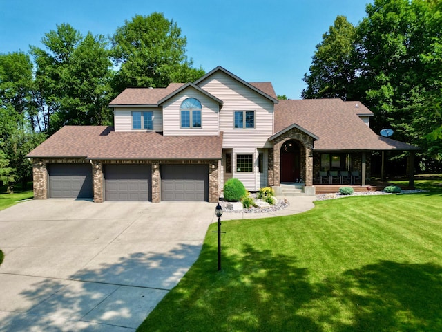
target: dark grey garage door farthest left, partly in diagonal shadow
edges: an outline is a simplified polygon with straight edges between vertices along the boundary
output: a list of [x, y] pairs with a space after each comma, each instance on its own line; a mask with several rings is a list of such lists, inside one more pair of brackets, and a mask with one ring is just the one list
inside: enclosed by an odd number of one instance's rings
[[48, 173], [50, 198], [92, 198], [92, 165], [48, 164]]

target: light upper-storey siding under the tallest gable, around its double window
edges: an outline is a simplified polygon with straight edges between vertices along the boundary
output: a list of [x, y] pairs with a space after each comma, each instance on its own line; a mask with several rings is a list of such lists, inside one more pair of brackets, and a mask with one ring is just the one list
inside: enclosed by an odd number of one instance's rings
[[[202, 89], [224, 102], [220, 111], [220, 131], [224, 131], [224, 148], [271, 147], [273, 102], [232, 77], [218, 72], [200, 83]], [[233, 129], [234, 111], [255, 111], [255, 129]]]

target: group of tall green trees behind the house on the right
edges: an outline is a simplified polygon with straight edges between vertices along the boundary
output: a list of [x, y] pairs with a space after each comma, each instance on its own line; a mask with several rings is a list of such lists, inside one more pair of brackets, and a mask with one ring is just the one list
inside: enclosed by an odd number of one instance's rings
[[360, 100], [374, 131], [394, 129], [422, 148], [422, 172], [442, 172], [442, 1], [374, 0], [366, 13], [323, 35], [302, 98]]

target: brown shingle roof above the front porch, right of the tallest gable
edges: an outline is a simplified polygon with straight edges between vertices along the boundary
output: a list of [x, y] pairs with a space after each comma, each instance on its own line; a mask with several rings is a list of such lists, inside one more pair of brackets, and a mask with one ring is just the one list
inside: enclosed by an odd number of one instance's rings
[[372, 115], [361, 102], [340, 99], [280, 100], [275, 105], [275, 135], [297, 124], [315, 136], [316, 150], [414, 150], [404, 142], [376, 135], [358, 117]]

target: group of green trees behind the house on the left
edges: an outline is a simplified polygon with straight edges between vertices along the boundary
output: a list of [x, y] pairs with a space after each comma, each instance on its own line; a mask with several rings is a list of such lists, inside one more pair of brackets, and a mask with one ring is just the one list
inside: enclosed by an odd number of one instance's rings
[[126, 87], [165, 87], [204, 75], [186, 37], [162, 13], [135, 15], [111, 37], [59, 24], [42, 48], [0, 54], [0, 181], [26, 182], [26, 154], [64, 125], [109, 125], [109, 102]]

